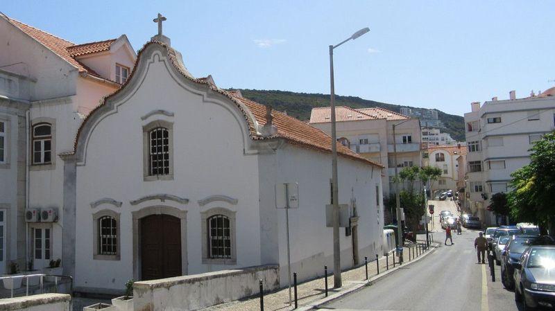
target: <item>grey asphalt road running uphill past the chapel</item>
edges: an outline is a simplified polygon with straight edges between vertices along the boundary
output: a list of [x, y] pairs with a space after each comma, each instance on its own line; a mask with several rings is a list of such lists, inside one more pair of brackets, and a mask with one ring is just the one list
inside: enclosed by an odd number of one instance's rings
[[[456, 212], [450, 201], [431, 201], [436, 215], [443, 210]], [[513, 292], [505, 290], [496, 267], [491, 282], [489, 266], [477, 264], [474, 239], [478, 231], [453, 231], [454, 245], [443, 245], [445, 231], [436, 221], [434, 241], [442, 242], [432, 254], [382, 278], [370, 287], [323, 307], [323, 310], [468, 310], [516, 311]]]

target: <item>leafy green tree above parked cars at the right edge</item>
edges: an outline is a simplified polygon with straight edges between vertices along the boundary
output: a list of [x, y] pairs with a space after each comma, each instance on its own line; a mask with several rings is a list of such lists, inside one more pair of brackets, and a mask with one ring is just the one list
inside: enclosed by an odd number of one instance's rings
[[[544, 228], [555, 225], [555, 132], [533, 143], [530, 164], [511, 174], [511, 216]], [[553, 234], [553, 230], [550, 230]]]

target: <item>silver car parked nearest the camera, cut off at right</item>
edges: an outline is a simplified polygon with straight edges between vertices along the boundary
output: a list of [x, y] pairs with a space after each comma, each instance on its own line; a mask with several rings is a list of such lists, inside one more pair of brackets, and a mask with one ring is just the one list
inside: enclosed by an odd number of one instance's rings
[[555, 304], [555, 246], [531, 246], [514, 265], [515, 301], [524, 310]]

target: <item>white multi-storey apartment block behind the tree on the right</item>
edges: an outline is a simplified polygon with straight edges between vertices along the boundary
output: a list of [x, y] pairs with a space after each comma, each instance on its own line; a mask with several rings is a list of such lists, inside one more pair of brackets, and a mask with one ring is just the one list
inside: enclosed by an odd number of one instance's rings
[[495, 224], [487, 211], [494, 193], [506, 192], [511, 173], [530, 162], [532, 143], [555, 129], [555, 87], [542, 94], [509, 100], [497, 97], [470, 104], [464, 115], [468, 145], [466, 198], [473, 214]]

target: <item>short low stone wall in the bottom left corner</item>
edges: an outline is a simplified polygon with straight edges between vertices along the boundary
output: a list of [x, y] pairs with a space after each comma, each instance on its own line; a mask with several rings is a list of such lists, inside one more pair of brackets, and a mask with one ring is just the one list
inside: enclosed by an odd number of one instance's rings
[[68, 294], [40, 294], [0, 300], [0, 311], [69, 311]]

